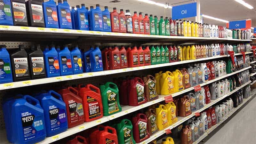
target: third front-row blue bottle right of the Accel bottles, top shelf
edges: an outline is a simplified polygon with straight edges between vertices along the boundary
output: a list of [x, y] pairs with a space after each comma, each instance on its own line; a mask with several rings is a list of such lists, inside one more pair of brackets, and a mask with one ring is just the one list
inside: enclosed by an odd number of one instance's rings
[[82, 8], [76, 10], [76, 29], [89, 30], [88, 10], [85, 9], [85, 4], [81, 4]]

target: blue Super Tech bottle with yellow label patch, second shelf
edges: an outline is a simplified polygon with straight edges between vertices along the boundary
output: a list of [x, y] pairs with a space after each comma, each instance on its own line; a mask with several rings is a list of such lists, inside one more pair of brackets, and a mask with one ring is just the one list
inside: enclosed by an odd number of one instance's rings
[[72, 60], [73, 74], [83, 73], [82, 55], [81, 55], [81, 51], [78, 49], [78, 46], [76, 46], [71, 51], [71, 60]]

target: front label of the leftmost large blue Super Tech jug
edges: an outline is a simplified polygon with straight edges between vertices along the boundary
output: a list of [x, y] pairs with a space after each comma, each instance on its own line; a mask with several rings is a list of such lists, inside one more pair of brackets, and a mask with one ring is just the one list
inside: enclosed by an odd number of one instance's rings
[[21, 113], [21, 123], [23, 129], [23, 138], [25, 141], [36, 139], [37, 134], [44, 131], [43, 115], [35, 116], [31, 112]]

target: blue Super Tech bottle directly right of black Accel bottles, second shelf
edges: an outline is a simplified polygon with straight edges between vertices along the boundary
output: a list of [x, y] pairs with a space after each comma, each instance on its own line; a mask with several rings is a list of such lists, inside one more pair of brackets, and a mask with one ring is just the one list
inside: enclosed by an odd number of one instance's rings
[[51, 50], [44, 51], [44, 62], [47, 77], [60, 76], [59, 55], [54, 45]]

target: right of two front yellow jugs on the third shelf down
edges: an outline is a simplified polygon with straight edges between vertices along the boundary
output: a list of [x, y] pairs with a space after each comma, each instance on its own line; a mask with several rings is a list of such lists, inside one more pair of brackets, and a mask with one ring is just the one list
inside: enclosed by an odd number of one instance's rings
[[174, 76], [174, 89], [175, 92], [180, 92], [182, 90], [184, 90], [184, 86], [183, 86], [183, 76], [182, 73], [180, 72], [180, 70], [176, 69], [175, 71], [172, 72], [173, 76]]

